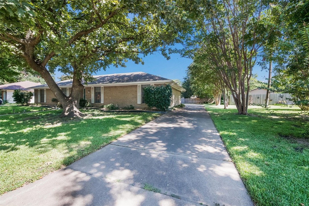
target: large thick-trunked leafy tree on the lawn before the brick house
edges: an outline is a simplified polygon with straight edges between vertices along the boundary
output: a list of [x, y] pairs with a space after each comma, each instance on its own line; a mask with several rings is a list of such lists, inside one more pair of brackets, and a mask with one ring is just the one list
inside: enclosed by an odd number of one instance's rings
[[[176, 9], [159, 0], [1, 1], [1, 57], [21, 57], [61, 103], [61, 116], [80, 116], [82, 79], [91, 81], [92, 73], [109, 65], [142, 62], [141, 53], [160, 51], [168, 58], [166, 45], [184, 15]], [[73, 75], [68, 97], [51, 75], [55, 70]]]

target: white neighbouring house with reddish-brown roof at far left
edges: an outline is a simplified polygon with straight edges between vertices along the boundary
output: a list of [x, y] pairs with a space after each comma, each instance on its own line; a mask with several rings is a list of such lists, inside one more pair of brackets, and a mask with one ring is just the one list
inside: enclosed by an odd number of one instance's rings
[[[0, 97], [3, 101], [7, 100], [9, 103], [15, 103], [13, 100], [13, 92], [14, 90], [20, 89], [25, 91], [34, 92], [33, 89], [28, 89], [28, 87], [38, 86], [41, 83], [31, 82], [31, 81], [23, 81], [16, 82], [11, 84], [2, 84], [0, 85]], [[30, 103], [34, 103], [34, 99], [32, 98]]]

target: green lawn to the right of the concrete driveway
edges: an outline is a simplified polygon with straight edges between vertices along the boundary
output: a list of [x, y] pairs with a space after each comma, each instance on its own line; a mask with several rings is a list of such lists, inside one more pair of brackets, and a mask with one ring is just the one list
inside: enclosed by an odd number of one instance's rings
[[256, 205], [309, 205], [309, 114], [229, 107], [205, 105]]

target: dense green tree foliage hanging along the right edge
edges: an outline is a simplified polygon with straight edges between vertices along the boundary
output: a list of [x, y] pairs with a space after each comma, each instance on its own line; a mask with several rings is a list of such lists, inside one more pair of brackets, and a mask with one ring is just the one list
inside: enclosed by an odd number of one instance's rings
[[309, 110], [309, 2], [282, 1], [277, 10], [283, 38], [274, 57], [274, 80], [296, 105]]

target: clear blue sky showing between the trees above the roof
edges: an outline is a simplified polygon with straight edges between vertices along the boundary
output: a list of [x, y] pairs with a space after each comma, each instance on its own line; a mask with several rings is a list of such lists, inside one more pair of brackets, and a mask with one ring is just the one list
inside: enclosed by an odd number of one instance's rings
[[[144, 57], [144, 65], [129, 61], [126, 63], [125, 68], [110, 67], [106, 71], [101, 70], [94, 75], [142, 71], [167, 79], [180, 79], [182, 81], [186, 75], [187, 67], [192, 63], [192, 59], [183, 58], [180, 54], [171, 54], [170, 56], [171, 59], [166, 60], [161, 54], [156, 53]], [[265, 77], [268, 77], [268, 71], [261, 71], [258, 65], [253, 68], [253, 73], [258, 75], [257, 79], [260, 81], [265, 81]], [[58, 81], [57, 77], [61, 75], [60, 72], [55, 73], [56, 81]]]

